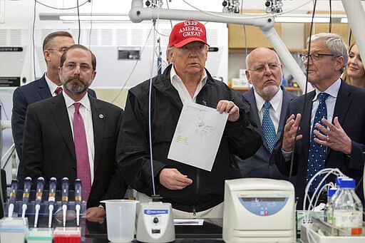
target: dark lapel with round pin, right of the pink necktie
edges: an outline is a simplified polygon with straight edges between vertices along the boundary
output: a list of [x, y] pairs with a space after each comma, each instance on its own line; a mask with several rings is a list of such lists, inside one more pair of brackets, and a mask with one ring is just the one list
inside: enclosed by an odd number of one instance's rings
[[95, 157], [94, 157], [94, 172], [98, 168], [101, 161], [101, 145], [103, 143], [103, 131], [105, 128], [106, 117], [101, 106], [98, 104], [97, 99], [88, 96], [91, 103], [91, 116], [93, 118], [93, 131], [94, 131], [94, 146], [95, 146]]

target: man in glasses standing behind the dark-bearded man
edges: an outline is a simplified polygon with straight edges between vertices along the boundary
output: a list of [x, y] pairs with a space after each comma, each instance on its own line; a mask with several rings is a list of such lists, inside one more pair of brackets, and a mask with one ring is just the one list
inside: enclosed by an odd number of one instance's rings
[[[56, 95], [56, 88], [61, 87], [58, 77], [58, 66], [61, 55], [66, 49], [74, 44], [70, 33], [66, 31], [56, 31], [48, 34], [43, 41], [43, 56], [46, 61], [47, 71], [41, 78], [31, 83], [16, 88], [13, 94], [13, 112], [11, 115], [11, 130], [13, 133], [16, 153], [19, 157], [17, 179], [19, 185], [23, 185], [24, 177], [28, 176], [24, 172], [22, 159], [24, 120], [26, 118], [26, 108], [31, 103], [50, 98]], [[95, 91], [89, 89], [89, 94], [96, 97]]]

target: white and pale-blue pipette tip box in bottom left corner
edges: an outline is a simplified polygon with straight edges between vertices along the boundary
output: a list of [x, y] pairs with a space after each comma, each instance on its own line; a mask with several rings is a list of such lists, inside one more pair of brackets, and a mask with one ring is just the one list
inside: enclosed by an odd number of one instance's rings
[[0, 219], [0, 242], [24, 243], [28, 231], [28, 218], [4, 217]]

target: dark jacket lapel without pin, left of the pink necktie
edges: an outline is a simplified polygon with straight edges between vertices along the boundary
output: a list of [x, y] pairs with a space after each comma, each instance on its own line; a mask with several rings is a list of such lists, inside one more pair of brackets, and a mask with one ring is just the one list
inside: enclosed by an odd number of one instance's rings
[[66, 108], [65, 99], [63, 95], [57, 95], [51, 100], [53, 108], [51, 113], [53, 114], [54, 120], [58, 129], [60, 130], [63, 139], [66, 142], [68, 149], [76, 162], [75, 145], [73, 143], [73, 135], [71, 130], [70, 119], [68, 118], [68, 112]]

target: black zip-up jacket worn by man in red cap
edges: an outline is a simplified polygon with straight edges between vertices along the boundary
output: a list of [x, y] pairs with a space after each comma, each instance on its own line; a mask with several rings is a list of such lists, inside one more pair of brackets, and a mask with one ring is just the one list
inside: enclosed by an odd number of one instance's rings
[[[156, 194], [163, 202], [185, 212], [200, 212], [220, 204], [224, 197], [225, 180], [240, 177], [234, 155], [242, 159], [254, 155], [262, 145], [261, 135], [250, 113], [250, 104], [237, 91], [216, 81], [207, 71], [207, 82], [197, 95], [196, 103], [217, 108], [220, 100], [232, 100], [240, 108], [240, 119], [227, 121], [212, 171], [168, 159], [170, 143], [175, 133], [183, 103], [170, 82], [172, 65], [153, 78], [151, 96], [151, 130], [153, 143], [153, 171]], [[117, 160], [125, 181], [135, 190], [153, 195], [148, 135], [148, 100], [150, 81], [131, 88], [125, 104]], [[197, 153], [200, 152], [197, 148]], [[175, 168], [192, 179], [183, 190], [169, 190], [159, 182], [160, 170]]]

